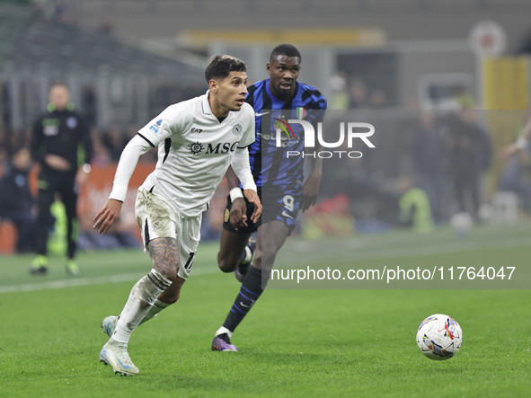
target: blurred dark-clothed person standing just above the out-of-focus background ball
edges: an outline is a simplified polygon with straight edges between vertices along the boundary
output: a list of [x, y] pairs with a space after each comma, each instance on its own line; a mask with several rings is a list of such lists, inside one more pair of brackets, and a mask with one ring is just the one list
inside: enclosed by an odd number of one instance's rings
[[412, 163], [420, 188], [429, 198], [433, 217], [437, 222], [447, 217], [446, 185], [447, 155], [443, 140], [430, 111], [420, 113], [419, 126], [412, 141]]

